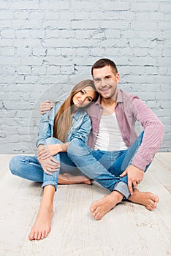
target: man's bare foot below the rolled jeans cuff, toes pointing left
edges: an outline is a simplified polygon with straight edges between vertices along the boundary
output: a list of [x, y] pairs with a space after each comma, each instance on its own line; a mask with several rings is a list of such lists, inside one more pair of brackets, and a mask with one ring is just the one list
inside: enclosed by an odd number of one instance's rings
[[120, 192], [113, 191], [110, 195], [105, 195], [102, 199], [94, 201], [90, 206], [90, 211], [95, 219], [102, 219], [102, 217], [120, 203], [122, 199], [123, 195]]

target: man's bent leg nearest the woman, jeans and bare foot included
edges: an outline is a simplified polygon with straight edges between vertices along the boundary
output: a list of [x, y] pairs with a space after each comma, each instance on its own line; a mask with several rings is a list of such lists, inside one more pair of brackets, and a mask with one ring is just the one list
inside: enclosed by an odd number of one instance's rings
[[104, 160], [106, 157], [104, 155], [100, 157], [98, 151], [92, 151], [85, 143], [77, 139], [72, 140], [68, 148], [69, 158], [72, 162], [75, 162], [81, 172], [111, 191], [110, 195], [106, 195], [91, 205], [90, 210], [95, 219], [102, 219], [104, 214], [107, 214], [108, 211], [123, 200], [123, 197], [129, 197], [129, 189], [126, 184], [127, 178], [122, 178], [121, 181], [119, 176], [117, 177], [110, 173], [99, 162], [100, 158]]

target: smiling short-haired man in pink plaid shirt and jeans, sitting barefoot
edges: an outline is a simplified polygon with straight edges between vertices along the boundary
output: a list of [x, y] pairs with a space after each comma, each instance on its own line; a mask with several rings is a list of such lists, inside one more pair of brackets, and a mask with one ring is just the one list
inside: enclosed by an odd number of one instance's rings
[[[91, 74], [100, 96], [87, 109], [92, 121], [88, 146], [75, 139], [68, 148], [69, 158], [82, 173], [110, 189], [110, 195], [96, 200], [90, 210], [95, 219], [102, 219], [123, 199], [153, 210], [159, 197], [135, 187], [161, 145], [164, 126], [138, 97], [117, 88], [120, 75], [113, 61], [96, 61]], [[45, 106], [41, 110], [47, 110]], [[144, 128], [138, 138], [135, 121]]]

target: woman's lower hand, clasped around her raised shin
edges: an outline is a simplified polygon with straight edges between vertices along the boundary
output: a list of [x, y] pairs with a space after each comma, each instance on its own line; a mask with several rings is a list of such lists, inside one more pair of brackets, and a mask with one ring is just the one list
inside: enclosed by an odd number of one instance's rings
[[54, 157], [49, 157], [45, 160], [38, 158], [38, 160], [45, 173], [52, 175], [52, 172], [56, 172], [58, 170], [59, 164]]

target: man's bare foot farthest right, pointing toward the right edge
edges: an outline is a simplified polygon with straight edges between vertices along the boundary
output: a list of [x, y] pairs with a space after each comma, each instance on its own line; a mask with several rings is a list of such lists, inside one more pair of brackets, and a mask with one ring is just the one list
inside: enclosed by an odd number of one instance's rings
[[129, 201], [146, 206], [148, 210], [152, 211], [157, 207], [156, 203], [159, 202], [159, 197], [151, 192], [140, 192], [138, 189], [134, 189], [133, 195], [129, 197]]

